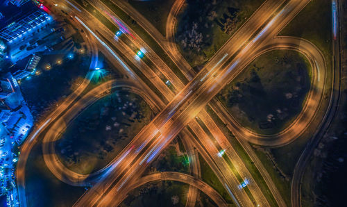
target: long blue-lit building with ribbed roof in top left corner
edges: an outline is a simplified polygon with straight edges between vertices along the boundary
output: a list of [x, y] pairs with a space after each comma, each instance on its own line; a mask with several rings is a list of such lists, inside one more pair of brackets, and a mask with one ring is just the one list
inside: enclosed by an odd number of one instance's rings
[[[46, 39], [52, 33], [53, 18], [48, 9], [40, 4], [27, 1], [17, 7], [12, 3], [1, 3], [0, 40], [5, 42], [4, 54], [12, 63], [17, 63], [33, 53], [44, 51], [50, 42]], [[48, 26], [49, 25], [49, 26]]]

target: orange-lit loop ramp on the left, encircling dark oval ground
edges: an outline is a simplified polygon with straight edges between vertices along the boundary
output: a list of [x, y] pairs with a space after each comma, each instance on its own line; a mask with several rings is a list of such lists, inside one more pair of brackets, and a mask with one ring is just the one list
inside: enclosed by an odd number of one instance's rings
[[134, 92], [139, 94], [147, 104], [151, 107], [151, 109], [158, 113], [158, 107], [155, 105], [155, 101], [152, 101], [150, 97], [133, 81], [124, 81], [124, 80], [112, 80], [106, 83], [99, 85], [94, 88], [87, 94], [85, 94], [81, 99], [79, 99], [67, 112], [60, 117], [51, 128], [44, 135], [44, 139], [42, 141], [42, 151], [44, 156], [44, 162], [46, 166], [49, 168], [52, 174], [56, 176], [57, 179], [63, 181], [69, 185], [74, 186], [86, 186], [91, 185], [99, 179], [101, 174], [107, 172], [107, 169], [112, 166], [116, 158], [113, 159], [108, 165], [99, 169], [92, 174], [79, 174], [71, 171], [65, 165], [63, 165], [56, 155], [55, 146], [56, 140], [60, 137], [62, 131], [64, 131], [67, 125], [76, 117], [78, 113], [85, 110], [88, 106], [95, 103], [105, 95], [109, 94], [111, 90], [115, 89], [128, 90], [130, 92]]

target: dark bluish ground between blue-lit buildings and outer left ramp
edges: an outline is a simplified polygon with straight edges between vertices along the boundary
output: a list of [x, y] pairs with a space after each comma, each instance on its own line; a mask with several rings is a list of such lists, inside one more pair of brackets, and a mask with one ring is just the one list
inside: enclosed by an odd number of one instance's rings
[[62, 65], [46, 69], [48, 63], [56, 63], [57, 60], [56, 55], [43, 56], [37, 65], [40, 74], [25, 78], [20, 83], [24, 99], [35, 118], [61, 98], [67, 97], [89, 69], [88, 56], [75, 56], [73, 60], [65, 60]]

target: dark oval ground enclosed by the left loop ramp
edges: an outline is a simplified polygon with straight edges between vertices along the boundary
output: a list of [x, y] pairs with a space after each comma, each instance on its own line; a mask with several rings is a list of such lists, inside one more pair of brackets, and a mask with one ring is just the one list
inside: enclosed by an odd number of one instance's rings
[[56, 143], [62, 163], [88, 174], [105, 167], [151, 120], [137, 94], [116, 91], [85, 109]]

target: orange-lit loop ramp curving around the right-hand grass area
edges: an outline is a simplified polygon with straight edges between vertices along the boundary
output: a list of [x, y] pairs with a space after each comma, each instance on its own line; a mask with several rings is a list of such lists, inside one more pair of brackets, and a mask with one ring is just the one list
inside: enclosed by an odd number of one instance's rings
[[303, 110], [294, 119], [294, 122], [291, 122], [286, 129], [280, 131], [280, 133], [271, 135], [255, 133], [239, 124], [234, 117], [228, 114], [228, 111], [225, 108], [224, 110], [221, 110], [223, 109], [223, 106], [218, 101], [214, 100], [210, 103], [219, 117], [223, 117], [223, 121], [228, 122], [232, 133], [235, 133], [235, 135], [244, 138], [253, 144], [282, 146], [294, 141], [305, 131], [305, 129], [307, 129], [308, 126], [310, 126], [310, 123], [316, 116], [316, 111], [319, 110], [321, 106], [327, 74], [325, 59], [321, 51], [319, 51], [319, 49], [311, 42], [301, 38], [276, 37], [260, 49], [260, 52], [257, 53], [257, 56], [255, 56], [253, 60], [263, 53], [276, 49], [298, 51], [307, 58], [312, 67], [311, 87], [307, 94]]

